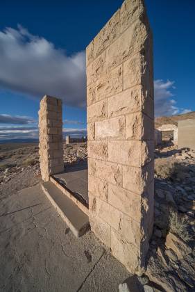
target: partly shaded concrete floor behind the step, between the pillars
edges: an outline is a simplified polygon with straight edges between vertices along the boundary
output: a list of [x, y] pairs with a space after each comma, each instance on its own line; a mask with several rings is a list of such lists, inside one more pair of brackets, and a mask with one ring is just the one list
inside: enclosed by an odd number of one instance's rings
[[55, 179], [64, 184], [72, 193], [89, 204], [88, 200], [88, 169], [87, 162], [81, 162], [76, 165], [67, 166], [65, 172], [53, 175]]

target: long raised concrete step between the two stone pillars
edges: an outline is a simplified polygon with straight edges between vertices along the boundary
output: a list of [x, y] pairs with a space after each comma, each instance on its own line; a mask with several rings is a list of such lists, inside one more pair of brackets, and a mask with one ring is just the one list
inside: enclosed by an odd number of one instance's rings
[[42, 190], [76, 237], [80, 237], [87, 232], [90, 228], [89, 218], [72, 200], [51, 181], [42, 183]]

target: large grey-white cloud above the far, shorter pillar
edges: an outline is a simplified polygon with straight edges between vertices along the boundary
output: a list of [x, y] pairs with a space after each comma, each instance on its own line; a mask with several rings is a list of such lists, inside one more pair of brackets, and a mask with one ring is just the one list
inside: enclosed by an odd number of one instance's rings
[[0, 86], [41, 98], [62, 98], [70, 106], [85, 106], [85, 52], [67, 56], [52, 42], [27, 29], [0, 31]]

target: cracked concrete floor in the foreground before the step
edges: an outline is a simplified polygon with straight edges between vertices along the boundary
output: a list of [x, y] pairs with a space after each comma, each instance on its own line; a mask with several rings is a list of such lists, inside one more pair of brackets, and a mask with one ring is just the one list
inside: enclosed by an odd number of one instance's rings
[[118, 291], [129, 273], [88, 232], [75, 238], [40, 184], [0, 206], [0, 291]]

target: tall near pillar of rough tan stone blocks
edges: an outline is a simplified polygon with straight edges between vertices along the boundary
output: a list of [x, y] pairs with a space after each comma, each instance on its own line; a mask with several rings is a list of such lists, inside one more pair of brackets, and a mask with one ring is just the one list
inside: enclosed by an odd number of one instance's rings
[[153, 53], [144, 1], [126, 0], [87, 47], [90, 225], [133, 273], [153, 230]]

